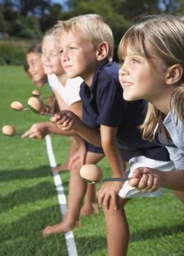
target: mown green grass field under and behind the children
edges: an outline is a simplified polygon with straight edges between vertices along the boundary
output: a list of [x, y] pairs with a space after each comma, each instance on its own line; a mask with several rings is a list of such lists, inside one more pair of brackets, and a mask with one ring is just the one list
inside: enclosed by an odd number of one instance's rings
[[[33, 87], [20, 66], [0, 66], [1, 127], [15, 125], [17, 132], [34, 122], [48, 120], [28, 111], [10, 109], [11, 101], [26, 105]], [[47, 87], [42, 94], [50, 94]], [[68, 138], [52, 136], [56, 162], [66, 159]], [[42, 229], [61, 221], [57, 194], [49, 168], [45, 140], [0, 134], [0, 256], [67, 256], [63, 234], [47, 238]], [[99, 164], [109, 176], [105, 159]], [[61, 174], [66, 195], [69, 173]], [[126, 206], [131, 240], [128, 256], [183, 256], [183, 205], [172, 192], [157, 199], [135, 199]], [[79, 256], [107, 255], [105, 222], [100, 214], [82, 218], [73, 229]], [[117, 234], [118, 236], [118, 234]], [[116, 239], [116, 238], [114, 238]], [[116, 255], [114, 255], [116, 256]]]

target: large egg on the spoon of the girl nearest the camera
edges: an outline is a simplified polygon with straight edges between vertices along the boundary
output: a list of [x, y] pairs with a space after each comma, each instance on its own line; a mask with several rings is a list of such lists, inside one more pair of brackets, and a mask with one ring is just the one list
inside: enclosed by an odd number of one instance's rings
[[80, 169], [80, 176], [86, 180], [99, 182], [102, 179], [102, 169], [95, 164], [84, 164]]

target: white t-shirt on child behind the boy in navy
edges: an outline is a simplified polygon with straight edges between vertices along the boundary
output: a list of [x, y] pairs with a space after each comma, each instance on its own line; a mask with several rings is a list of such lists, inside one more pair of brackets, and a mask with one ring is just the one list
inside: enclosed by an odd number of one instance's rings
[[71, 106], [73, 103], [80, 101], [79, 90], [83, 79], [79, 76], [77, 78], [68, 78], [66, 80], [66, 86], [63, 86], [56, 75], [53, 73], [47, 75], [50, 87], [54, 88], [56, 92], [61, 96], [67, 106]]

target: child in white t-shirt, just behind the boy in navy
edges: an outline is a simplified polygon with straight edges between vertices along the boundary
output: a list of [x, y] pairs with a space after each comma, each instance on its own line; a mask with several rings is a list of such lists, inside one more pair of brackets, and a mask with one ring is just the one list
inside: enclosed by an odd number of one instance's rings
[[[79, 86], [82, 83], [82, 78], [69, 79], [63, 71], [60, 61], [59, 43], [56, 36], [56, 29], [47, 31], [43, 38], [42, 46], [42, 62], [45, 73], [49, 80], [49, 85], [58, 101], [59, 108], [70, 109], [79, 118], [82, 118], [82, 104], [79, 97]], [[77, 83], [77, 85], [76, 85]], [[96, 153], [94, 146], [91, 152], [86, 151], [89, 144], [77, 136], [72, 131], [62, 131], [55, 123], [42, 122], [32, 125], [29, 131], [23, 134], [22, 138], [44, 138], [47, 134], [59, 134], [62, 136], [71, 136], [72, 145], [70, 146], [69, 163], [70, 169], [70, 185], [68, 194], [68, 212], [66, 218], [58, 227], [47, 227], [43, 231], [43, 235], [48, 235], [57, 232], [68, 232], [76, 226], [80, 215], [89, 215], [98, 213], [98, 208], [95, 205], [95, 185], [87, 185], [79, 175], [79, 169], [84, 163], [97, 163], [104, 156], [103, 152]], [[75, 137], [75, 138], [74, 138]], [[54, 170], [56, 171], [56, 170]], [[82, 200], [85, 201], [81, 208]]]

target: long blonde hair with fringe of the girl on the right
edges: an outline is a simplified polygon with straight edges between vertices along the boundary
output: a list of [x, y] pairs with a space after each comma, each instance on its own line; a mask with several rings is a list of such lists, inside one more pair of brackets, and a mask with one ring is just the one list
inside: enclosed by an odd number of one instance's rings
[[[146, 45], [151, 45], [151, 49]], [[149, 52], [154, 52], [162, 60], [163, 68], [174, 64], [181, 64], [184, 69], [184, 21], [182, 16], [173, 15], [149, 15], [138, 20], [128, 31], [125, 32], [118, 46], [118, 57], [123, 59], [127, 47], [137, 53], [141, 53], [151, 64]], [[183, 77], [181, 85], [176, 87], [171, 97], [170, 109], [176, 111], [178, 118], [184, 122], [183, 99], [184, 85]], [[163, 114], [151, 103], [148, 104], [144, 124], [141, 125], [143, 138], [152, 141], [153, 131], [158, 124], [163, 129]]]

